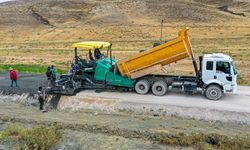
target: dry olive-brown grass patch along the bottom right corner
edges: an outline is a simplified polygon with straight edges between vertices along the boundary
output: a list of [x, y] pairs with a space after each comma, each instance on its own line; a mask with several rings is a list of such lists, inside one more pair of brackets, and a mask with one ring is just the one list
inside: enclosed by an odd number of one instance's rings
[[243, 150], [250, 148], [250, 137], [244, 137], [244, 138], [238, 136], [229, 137], [225, 135], [219, 135], [216, 133], [212, 134], [179, 133], [175, 135], [169, 135], [168, 138], [162, 139], [161, 143], [168, 145], [195, 146], [199, 150], [204, 150], [204, 149]]

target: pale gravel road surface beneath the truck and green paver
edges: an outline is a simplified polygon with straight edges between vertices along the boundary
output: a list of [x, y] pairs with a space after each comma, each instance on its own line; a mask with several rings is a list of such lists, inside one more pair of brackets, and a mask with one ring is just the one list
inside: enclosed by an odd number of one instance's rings
[[223, 99], [219, 101], [208, 100], [200, 93], [188, 95], [173, 92], [169, 92], [165, 96], [154, 96], [153, 94], [139, 95], [134, 92], [96, 93], [95, 91], [88, 90], [79, 93], [76, 97], [104, 97], [117, 99], [121, 103], [175, 105], [250, 113], [250, 87], [248, 86], [239, 86], [237, 94], [226, 94]]

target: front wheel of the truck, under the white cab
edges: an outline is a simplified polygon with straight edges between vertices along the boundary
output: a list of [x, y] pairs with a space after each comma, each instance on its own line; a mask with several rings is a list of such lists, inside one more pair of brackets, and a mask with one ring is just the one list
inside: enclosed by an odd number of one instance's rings
[[210, 100], [219, 100], [222, 97], [222, 89], [218, 85], [210, 85], [205, 91], [205, 96]]

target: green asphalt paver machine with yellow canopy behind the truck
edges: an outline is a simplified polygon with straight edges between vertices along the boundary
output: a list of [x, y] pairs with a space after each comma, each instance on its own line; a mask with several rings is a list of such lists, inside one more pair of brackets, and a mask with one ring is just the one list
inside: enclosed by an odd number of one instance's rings
[[[133, 80], [116, 72], [116, 60], [112, 59], [112, 44], [109, 42], [87, 41], [75, 43], [74, 61], [71, 70], [61, 75], [49, 88], [48, 93], [72, 95], [82, 89], [122, 89], [131, 90]], [[78, 50], [89, 50], [88, 58], [78, 56]], [[94, 56], [92, 51], [94, 50]], [[106, 55], [102, 51], [106, 50]]]

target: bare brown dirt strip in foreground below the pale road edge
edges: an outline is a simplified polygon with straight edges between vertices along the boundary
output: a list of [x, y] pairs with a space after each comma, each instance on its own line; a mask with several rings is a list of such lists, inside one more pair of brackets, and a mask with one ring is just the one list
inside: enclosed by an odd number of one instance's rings
[[[15, 115], [13, 115], [13, 111]], [[190, 149], [208, 147], [225, 149], [230, 146], [237, 149], [240, 147], [248, 148], [250, 144], [248, 141], [249, 126], [234, 123], [224, 124], [127, 113], [103, 114], [94, 111], [79, 113], [49, 111], [42, 113], [36, 107], [10, 103], [1, 103], [0, 114], [1, 124], [5, 124], [5, 122], [19, 122], [26, 125], [56, 123], [65, 130], [66, 137], [76, 137], [80, 133], [84, 133], [83, 137], [86, 135], [97, 136], [98, 140], [92, 141], [92, 145], [100, 142], [99, 137], [101, 136], [108, 136], [113, 144], [121, 146], [127, 145], [127, 143], [114, 142], [113, 140], [125, 139], [125, 141], [130, 142], [131, 139], [134, 139], [134, 144], [148, 143], [146, 144], [148, 147], [144, 145], [145, 149], [150, 147], [161, 149], [163, 145], [165, 145], [163, 147], [170, 146], [170, 149], [171, 146], [189, 147]], [[73, 133], [77, 134], [72, 135]], [[76, 140], [75, 143], [79, 144], [79, 141], [84, 141], [83, 137]], [[114, 137], [117, 138], [114, 139]], [[91, 143], [89, 144], [91, 145]], [[134, 144], [132, 145], [134, 146]], [[60, 146], [63, 144], [59, 143]], [[101, 146], [103, 143], [100, 144]]]

